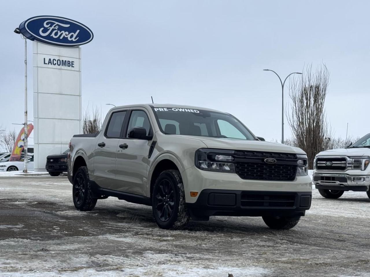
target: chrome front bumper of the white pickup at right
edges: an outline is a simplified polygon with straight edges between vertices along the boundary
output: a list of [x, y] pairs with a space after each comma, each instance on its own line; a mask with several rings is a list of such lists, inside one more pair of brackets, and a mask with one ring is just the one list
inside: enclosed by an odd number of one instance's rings
[[315, 172], [313, 174], [313, 183], [317, 189], [368, 191], [370, 186], [370, 176]]

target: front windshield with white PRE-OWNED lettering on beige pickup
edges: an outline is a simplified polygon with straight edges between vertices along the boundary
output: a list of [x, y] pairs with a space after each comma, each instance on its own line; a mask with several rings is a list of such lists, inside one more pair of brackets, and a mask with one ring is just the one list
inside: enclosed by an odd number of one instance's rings
[[164, 134], [256, 140], [235, 117], [227, 113], [173, 107], [153, 107]]

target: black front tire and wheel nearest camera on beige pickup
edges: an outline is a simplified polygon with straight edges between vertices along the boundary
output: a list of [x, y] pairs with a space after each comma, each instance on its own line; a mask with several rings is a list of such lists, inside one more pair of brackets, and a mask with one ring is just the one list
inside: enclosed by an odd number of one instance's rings
[[178, 170], [159, 174], [153, 188], [152, 209], [159, 228], [179, 229], [189, 222], [184, 185]]

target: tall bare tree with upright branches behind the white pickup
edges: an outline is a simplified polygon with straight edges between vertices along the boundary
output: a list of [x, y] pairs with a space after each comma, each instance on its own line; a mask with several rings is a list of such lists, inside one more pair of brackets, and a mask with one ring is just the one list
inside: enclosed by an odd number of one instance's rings
[[324, 64], [315, 72], [309, 65], [302, 77], [292, 81], [289, 87], [292, 103], [287, 111], [288, 123], [296, 145], [307, 153], [310, 168], [315, 155], [330, 147], [332, 132], [324, 109], [329, 75]]

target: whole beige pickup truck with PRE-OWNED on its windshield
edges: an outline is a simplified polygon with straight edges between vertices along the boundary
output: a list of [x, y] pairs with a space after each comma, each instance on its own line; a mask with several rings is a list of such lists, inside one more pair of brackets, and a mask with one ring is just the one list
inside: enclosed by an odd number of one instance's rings
[[71, 139], [68, 178], [78, 210], [115, 196], [152, 206], [164, 229], [209, 216], [262, 216], [270, 228], [290, 229], [311, 205], [303, 150], [201, 107], [112, 108], [99, 133]]

